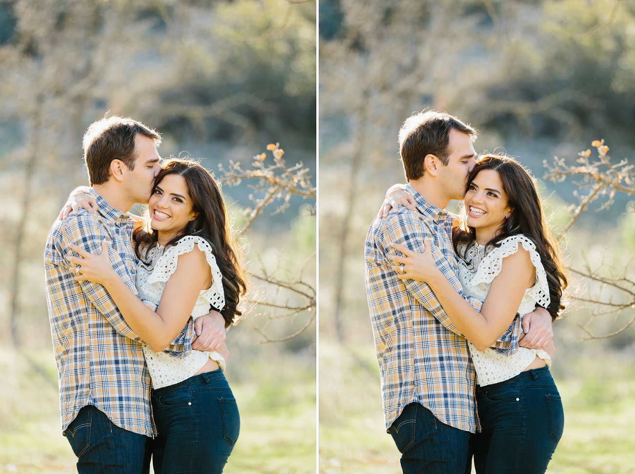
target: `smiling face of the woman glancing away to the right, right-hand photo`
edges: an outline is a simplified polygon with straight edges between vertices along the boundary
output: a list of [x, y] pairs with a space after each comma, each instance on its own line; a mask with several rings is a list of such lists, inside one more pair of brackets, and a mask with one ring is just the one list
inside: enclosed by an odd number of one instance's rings
[[493, 169], [483, 169], [474, 176], [465, 193], [464, 205], [467, 225], [476, 228], [479, 244], [500, 234], [505, 219], [513, 211], [507, 205], [500, 175]]

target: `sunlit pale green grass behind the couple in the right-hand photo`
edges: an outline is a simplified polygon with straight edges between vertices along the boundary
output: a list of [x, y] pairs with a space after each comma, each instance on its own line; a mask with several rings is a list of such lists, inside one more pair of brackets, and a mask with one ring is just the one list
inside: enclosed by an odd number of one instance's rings
[[[384, 428], [373, 346], [343, 350], [321, 341], [319, 371], [319, 472], [401, 473], [399, 451]], [[547, 472], [635, 472], [632, 364], [579, 360], [570, 372], [556, 379], [566, 422]]]

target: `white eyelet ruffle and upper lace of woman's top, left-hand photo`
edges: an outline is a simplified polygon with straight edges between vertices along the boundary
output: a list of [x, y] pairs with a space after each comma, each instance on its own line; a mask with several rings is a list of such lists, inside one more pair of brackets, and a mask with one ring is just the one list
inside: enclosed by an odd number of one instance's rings
[[[142, 289], [145, 294], [161, 299], [163, 287], [156, 285], [156, 283], [168, 281], [170, 276], [177, 270], [178, 256], [191, 252], [195, 244], [199, 249], [204, 251], [205, 258], [211, 269], [211, 286], [201, 294], [200, 297], [209, 301], [214, 308], [222, 310], [222, 308], [225, 307], [223, 275], [220, 273], [220, 268], [218, 268], [216, 256], [213, 253], [210, 243], [203, 239], [203, 237], [186, 235], [167, 250], [165, 250], [164, 247], [154, 247], [150, 249], [146, 254], [146, 258], [149, 258], [150, 261], [154, 261], [154, 265], [152, 266], [152, 270], [150, 270], [150, 274], [144, 279], [138, 279], [137, 283], [141, 286], [140, 289]], [[147, 266], [144, 267], [147, 268]], [[149, 268], [147, 269], [149, 270]]]

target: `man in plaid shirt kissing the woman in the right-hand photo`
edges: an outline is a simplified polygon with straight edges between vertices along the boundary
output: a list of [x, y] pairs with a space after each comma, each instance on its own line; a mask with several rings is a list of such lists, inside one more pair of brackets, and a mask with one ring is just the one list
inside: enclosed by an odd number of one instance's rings
[[[451, 199], [463, 199], [474, 168], [476, 131], [448, 114], [410, 117], [399, 131], [399, 152], [413, 209], [399, 207], [378, 216], [366, 237], [366, 290], [382, 379], [386, 428], [402, 453], [404, 473], [470, 472], [470, 433], [479, 429], [476, 374], [467, 341], [446, 315], [427, 284], [399, 280], [391, 269], [391, 242], [424, 251], [424, 239], [441, 250], [436, 261], [462, 293], [451, 245]], [[468, 298], [480, 310], [482, 301]], [[539, 308], [526, 315], [528, 340], [544, 343], [551, 316]], [[518, 350], [518, 317], [495, 343], [501, 353]]]

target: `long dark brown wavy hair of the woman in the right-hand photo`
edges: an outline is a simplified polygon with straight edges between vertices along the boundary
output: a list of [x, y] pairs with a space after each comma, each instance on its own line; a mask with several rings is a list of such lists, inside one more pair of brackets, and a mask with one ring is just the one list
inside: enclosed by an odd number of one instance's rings
[[[525, 235], [536, 244], [536, 250], [540, 254], [540, 260], [547, 273], [547, 282], [549, 284], [551, 303], [547, 311], [551, 314], [552, 319], [556, 319], [558, 313], [565, 308], [561, 300], [568, 280], [565, 266], [562, 263], [561, 248], [556, 239], [552, 237], [549, 225], [547, 225], [535, 180], [512, 157], [507, 155], [481, 155], [467, 178], [466, 192], [472, 180], [484, 169], [492, 169], [498, 173], [503, 183], [505, 194], [507, 194], [507, 206], [513, 209], [509, 217], [505, 219], [500, 229], [500, 234], [487, 242], [486, 247], [498, 247], [501, 240], [518, 234]], [[470, 246], [474, 245], [476, 240], [476, 230], [474, 227], [467, 225], [465, 218], [464, 209], [461, 223], [458, 227], [455, 227], [452, 234], [454, 250], [462, 258], [465, 258], [465, 252]], [[458, 251], [460, 244], [466, 244], [463, 254]]]

